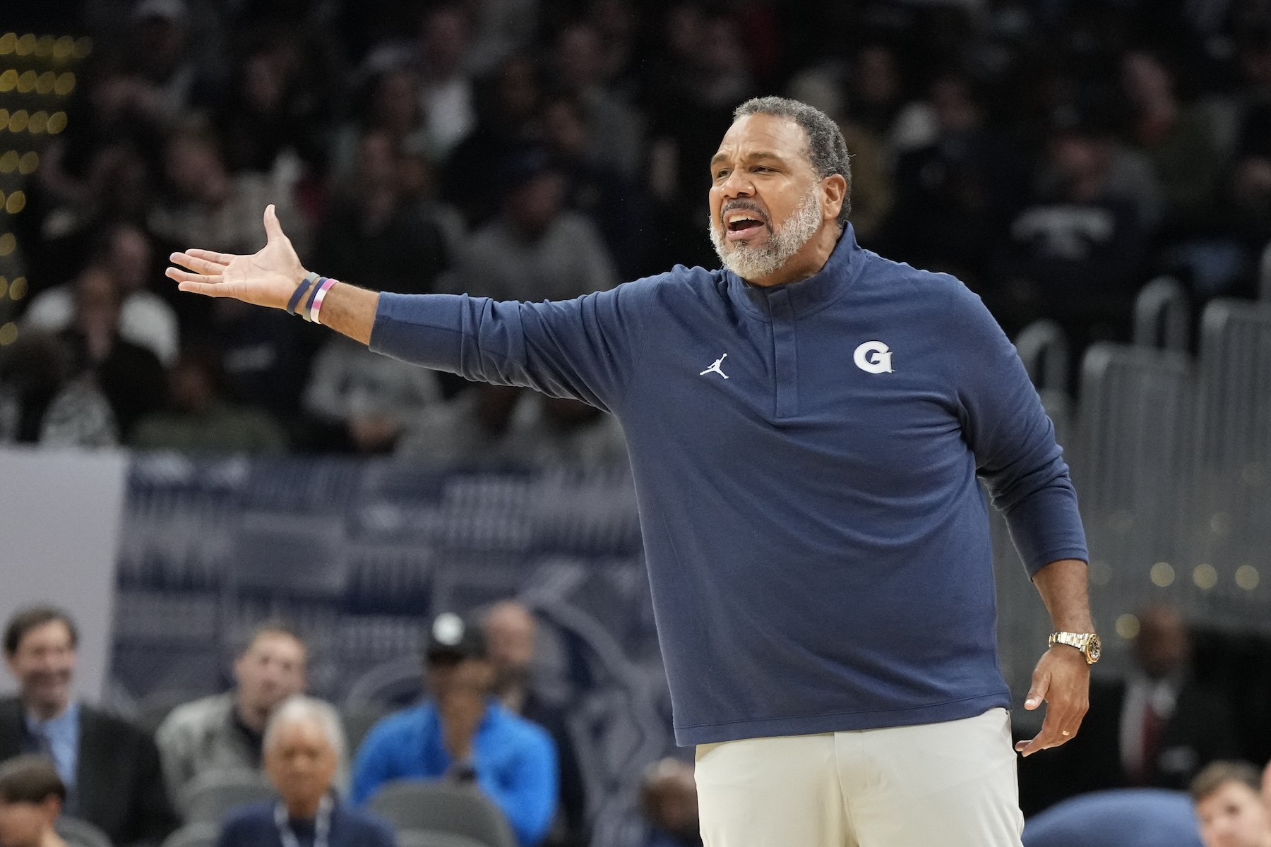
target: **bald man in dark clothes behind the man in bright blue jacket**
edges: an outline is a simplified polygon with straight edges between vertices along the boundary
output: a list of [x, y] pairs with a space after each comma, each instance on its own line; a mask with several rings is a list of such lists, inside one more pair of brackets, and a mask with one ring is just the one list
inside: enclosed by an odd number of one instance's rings
[[[568, 716], [561, 705], [547, 702], [533, 683], [538, 622], [517, 601], [494, 603], [483, 620], [489, 660], [494, 667], [494, 697], [512, 714], [548, 730], [561, 762], [561, 814], [552, 843], [586, 844], [587, 795], [578, 756], [569, 735]], [[557, 833], [555, 830], [561, 830]]]

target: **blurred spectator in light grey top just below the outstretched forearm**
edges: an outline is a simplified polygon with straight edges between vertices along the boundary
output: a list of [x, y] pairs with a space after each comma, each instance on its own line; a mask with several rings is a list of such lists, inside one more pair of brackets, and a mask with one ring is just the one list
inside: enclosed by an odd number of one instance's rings
[[314, 359], [304, 403], [310, 414], [343, 429], [357, 452], [385, 453], [407, 422], [440, 399], [433, 371], [336, 337]]

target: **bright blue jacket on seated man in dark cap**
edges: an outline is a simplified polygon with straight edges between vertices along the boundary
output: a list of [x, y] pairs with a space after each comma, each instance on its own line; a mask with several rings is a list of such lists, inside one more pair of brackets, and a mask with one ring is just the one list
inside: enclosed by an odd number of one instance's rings
[[[512, 825], [521, 847], [543, 841], [555, 814], [555, 744], [547, 730], [494, 701], [473, 738], [477, 785]], [[391, 780], [438, 778], [450, 767], [432, 702], [389, 715], [367, 733], [353, 762], [353, 803]]]

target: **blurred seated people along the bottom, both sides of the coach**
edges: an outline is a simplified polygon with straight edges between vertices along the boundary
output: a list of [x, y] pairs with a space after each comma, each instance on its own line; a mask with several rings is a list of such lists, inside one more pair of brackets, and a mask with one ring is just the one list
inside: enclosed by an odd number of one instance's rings
[[[1271, 767], [1249, 754], [1232, 692], [1174, 610], [1139, 620], [1132, 667], [1096, 678], [1078, 735], [1021, 759], [1024, 846], [1271, 847]], [[591, 794], [578, 730], [543, 683], [538, 626], [513, 599], [438, 615], [422, 697], [394, 710], [306, 693], [304, 634], [267, 620], [238, 646], [226, 691], [125, 717], [74, 695], [75, 621], [20, 610], [4, 630], [18, 693], [0, 698], [0, 847], [595, 843], [609, 799]], [[702, 847], [686, 757], [605, 790], [638, 795], [639, 837], [623, 843]]]

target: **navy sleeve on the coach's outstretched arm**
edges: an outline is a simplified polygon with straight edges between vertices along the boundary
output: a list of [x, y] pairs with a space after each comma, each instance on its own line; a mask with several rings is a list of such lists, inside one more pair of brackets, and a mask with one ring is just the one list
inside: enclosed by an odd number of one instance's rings
[[380, 295], [371, 349], [469, 380], [622, 405], [641, 353], [639, 282], [562, 302]]

